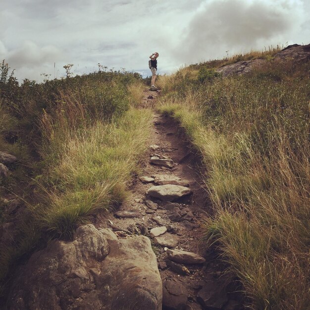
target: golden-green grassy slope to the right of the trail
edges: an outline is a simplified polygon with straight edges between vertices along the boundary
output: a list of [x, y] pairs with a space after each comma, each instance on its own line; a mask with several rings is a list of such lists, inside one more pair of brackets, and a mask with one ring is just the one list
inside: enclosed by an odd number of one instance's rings
[[219, 65], [162, 77], [159, 110], [180, 121], [203, 155], [215, 209], [207, 240], [230, 262], [253, 309], [307, 309], [309, 63], [270, 61], [230, 78], [210, 69]]

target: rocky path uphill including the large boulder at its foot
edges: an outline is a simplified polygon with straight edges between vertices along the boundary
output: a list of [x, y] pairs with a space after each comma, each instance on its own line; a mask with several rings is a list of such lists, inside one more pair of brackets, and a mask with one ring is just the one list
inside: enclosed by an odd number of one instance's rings
[[[154, 105], [146, 92], [143, 106]], [[0, 309], [242, 310], [238, 282], [203, 240], [210, 208], [197, 171], [177, 126], [155, 113], [129, 198], [16, 266]]]

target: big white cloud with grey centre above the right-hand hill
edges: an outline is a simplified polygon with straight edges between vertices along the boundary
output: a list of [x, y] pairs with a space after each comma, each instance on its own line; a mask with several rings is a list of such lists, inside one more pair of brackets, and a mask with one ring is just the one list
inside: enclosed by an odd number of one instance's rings
[[301, 43], [302, 38], [310, 38], [309, 29], [302, 26], [308, 19], [309, 12], [300, 0], [205, 1], [189, 24], [178, 58], [196, 62], [222, 57], [226, 51], [234, 54]]

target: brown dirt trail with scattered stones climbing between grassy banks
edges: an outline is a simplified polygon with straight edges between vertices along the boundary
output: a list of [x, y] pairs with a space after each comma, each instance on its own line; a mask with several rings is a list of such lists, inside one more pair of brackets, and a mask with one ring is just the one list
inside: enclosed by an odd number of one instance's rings
[[[154, 105], [156, 92], [145, 92], [144, 105]], [[192, 191], [172, 203], [165, 203], [146, 194], [154, 183], [137, 179], [132, 194], [120, 210], [133, 210], [135, 217], [118, 217], [116, 214], [98, 216], [96, 226], [110, 227], [119, 238], [149, 233], [152, 228], [167, 228], [162, 236], [171, 238], [173, 246], [158, 245], [153, 239], [158, 269], [163, 282], [163, 309], [223, 309], [240, 310], [240, 296], [232, 276], [224, 272], [227, 266], [218, 262], [212, 251], [203, 245], [202, 220], [208, 211], [207, 192], [201, 186], [197, 156], [182, 139], [182, 135], [169, 117], [154, 114], [154, 126], [149, 142], [149, 157], [143, 168], [143, 176], [175, 176], [188, 183]], [[150, 163], [152, 155], [171, 158], [173, 168]], [[157, 204], [150, 206], [150, 201]], [[149, 202], [149, 206], [148, 206]], [[177, 215], [175, 214], [177, 210]], [[125, 215], [126, 216], [126, 215]], [[152, 239], [151, 239], [152, 240]], [[156, 240], [156, 239], [155, 239]], [[167, 248], [193, 252], [207, 259], [200, 264], [179, 264], [167, 259]]]

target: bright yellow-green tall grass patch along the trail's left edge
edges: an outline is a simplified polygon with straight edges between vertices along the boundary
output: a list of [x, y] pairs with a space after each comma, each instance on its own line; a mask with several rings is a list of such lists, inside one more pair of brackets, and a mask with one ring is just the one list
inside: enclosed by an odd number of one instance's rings
[[41, 212], [36, 209], [42, 225], [71, 234], [99, 209], [120, 203], [146, 149], [150, 125], [149, 110], [130, 109], [109, 124], [96, 122], [66, 137], [56, 133], [42, 151], [43, 157], [54, 152], [46, 167], [54, 190], [46, 194]]

